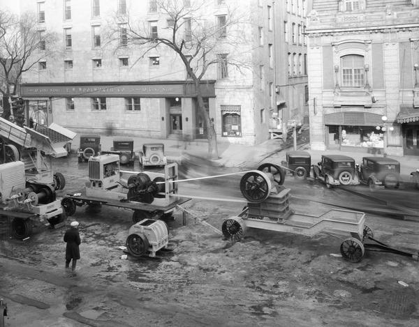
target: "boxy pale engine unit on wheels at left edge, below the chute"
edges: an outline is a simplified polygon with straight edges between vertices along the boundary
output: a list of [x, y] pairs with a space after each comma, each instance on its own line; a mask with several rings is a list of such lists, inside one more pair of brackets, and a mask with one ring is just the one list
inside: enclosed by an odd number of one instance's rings
[[2, 215], [13, 218], [12, 234], [19, 239], [31, 235], [31, 220], [54, 226], [66, 218], [52, 185], [26, 179], [22, 161], [0, 165], [0, 209]]

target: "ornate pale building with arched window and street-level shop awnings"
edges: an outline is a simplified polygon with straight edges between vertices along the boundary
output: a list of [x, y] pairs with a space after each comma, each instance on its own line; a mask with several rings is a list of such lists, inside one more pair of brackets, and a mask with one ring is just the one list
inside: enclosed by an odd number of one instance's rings
[[312, 6], [311, 148], [419, 155], [419, 1]]

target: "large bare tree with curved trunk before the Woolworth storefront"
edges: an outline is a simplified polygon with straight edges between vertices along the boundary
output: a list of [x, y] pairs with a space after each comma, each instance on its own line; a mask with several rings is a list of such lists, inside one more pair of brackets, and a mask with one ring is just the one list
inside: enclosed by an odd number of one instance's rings
[[[191, 2], [193, 3], [191, 5]], [[198, 110], [207, 125], [208, 154], [218, 158], [216, 131], [210, 114], [205, 109], [200, 82], [206, 77], [210, 67], [218, 66], [224, 73], [235, 67], [242, 71], [250, 67], [248, 53], [243, 51], [246, 33], [244, 24], [249, 20], [237, 8], [226, 8], [224, 13], [214, 18], [212, 1], [204, 0], [157, 0], [156, 10], [167, 20], [165, 33], [158, 33], [157, 27], [148, 22], [132, 20], [129, 15], [115, 15], [109, 24], [108, 44], [116, 50], [132, 47], [140, 50], [139, 59], [147, 52], [161, 47], [172, 50], [184, 64], [189, 81], [195, 86]]]

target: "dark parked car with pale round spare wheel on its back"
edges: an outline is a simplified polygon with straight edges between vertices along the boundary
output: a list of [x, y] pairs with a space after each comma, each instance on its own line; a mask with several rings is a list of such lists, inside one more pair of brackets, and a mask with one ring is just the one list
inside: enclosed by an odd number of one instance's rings
[[315, 179], [322, 181], [328, 188], [334, 185], [358, 185], [355, 160], [347, 155], [322, 155], [321, 162], [313, 165]]

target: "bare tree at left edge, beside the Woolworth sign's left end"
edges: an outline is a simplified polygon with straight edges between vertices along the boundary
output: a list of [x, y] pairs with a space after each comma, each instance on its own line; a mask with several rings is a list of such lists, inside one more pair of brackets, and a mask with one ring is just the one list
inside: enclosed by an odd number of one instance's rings
[[[55, 33], [38, 31], [36, 15], [20, 16], [6, 11], [0, 13], [0, 92], [3, 98], [17, 92], [22, 73], [54, 54]], [[3, 118], [10, 116], [10, 107], [4, 104]]]

